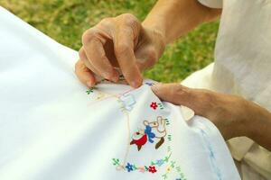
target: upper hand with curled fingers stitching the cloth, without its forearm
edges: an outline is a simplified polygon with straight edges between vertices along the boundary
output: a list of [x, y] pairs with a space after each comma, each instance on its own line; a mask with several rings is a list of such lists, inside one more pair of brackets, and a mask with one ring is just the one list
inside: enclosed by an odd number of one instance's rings
[[165, 46], [162, 33], [144, 27], [132, 14], [103, 19], [83, 33], [82, 44], [75, 72], [88, 86], [98, 76], [117, 82], [116, 67], [129, 85], [141, 85], [141, 72], [154, 65]]

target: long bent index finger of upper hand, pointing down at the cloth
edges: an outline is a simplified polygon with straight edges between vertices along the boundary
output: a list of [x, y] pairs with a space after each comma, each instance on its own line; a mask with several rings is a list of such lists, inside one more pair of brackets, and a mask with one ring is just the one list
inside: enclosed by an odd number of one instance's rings
[[142, 84], [143, 78], [136, 66], [134, 39], [132, 28], [119, 26], [113, 41], [117, 62], [126, 81], [129, 85], [138, 87]]

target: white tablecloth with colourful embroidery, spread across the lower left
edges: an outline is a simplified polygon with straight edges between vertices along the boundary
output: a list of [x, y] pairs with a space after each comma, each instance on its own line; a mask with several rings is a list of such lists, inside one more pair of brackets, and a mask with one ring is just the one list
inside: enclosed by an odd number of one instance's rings
[[183, 121], [152, 81], [87, 91], [77, 52], [3, 8], [0, 40], [1, 180], [240, 179], [219, 130]]

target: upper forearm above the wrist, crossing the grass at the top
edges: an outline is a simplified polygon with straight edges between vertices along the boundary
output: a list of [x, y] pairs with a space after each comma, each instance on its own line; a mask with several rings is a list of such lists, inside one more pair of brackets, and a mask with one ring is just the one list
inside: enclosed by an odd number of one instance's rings
[[213, 20], [220, 12], [201, 5], [197, 0], [159, 0], [143, 25], [160, 31], [167, 44], [197, 25]]

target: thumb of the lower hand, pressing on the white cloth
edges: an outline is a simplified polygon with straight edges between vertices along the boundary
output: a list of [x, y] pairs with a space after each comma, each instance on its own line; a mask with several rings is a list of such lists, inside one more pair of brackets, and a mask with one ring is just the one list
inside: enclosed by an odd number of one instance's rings
[[194, 104], [198, 102], [198, 95], [194, 89], [178, 83], [156, 84], [152, 86], [152, 90], [160, 99], [169, 103], [187, 106], [192, 110], [195, 109]]

